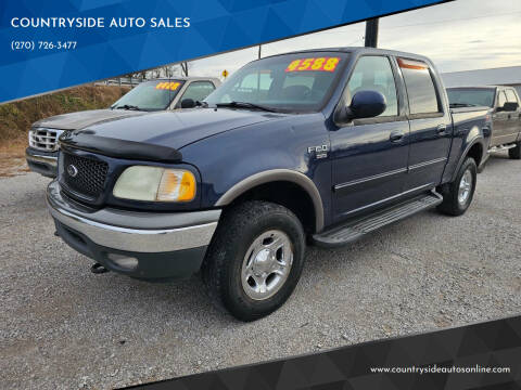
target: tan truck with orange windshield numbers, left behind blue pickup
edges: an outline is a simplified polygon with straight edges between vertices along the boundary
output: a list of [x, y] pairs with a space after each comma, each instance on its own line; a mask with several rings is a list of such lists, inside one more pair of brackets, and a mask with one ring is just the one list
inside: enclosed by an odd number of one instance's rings
[[58, 138], [65, 130], [79, 130], [97, 122], [143, 115], [163, 109], [179, 109], [181, 101], [203, 100], [220, 81], [207, 77], [177, 77], [140, 83], [107, 109], [92, 109], [56, 115], [33, 123], [25, 155], [30, 170], [56, 177]]

